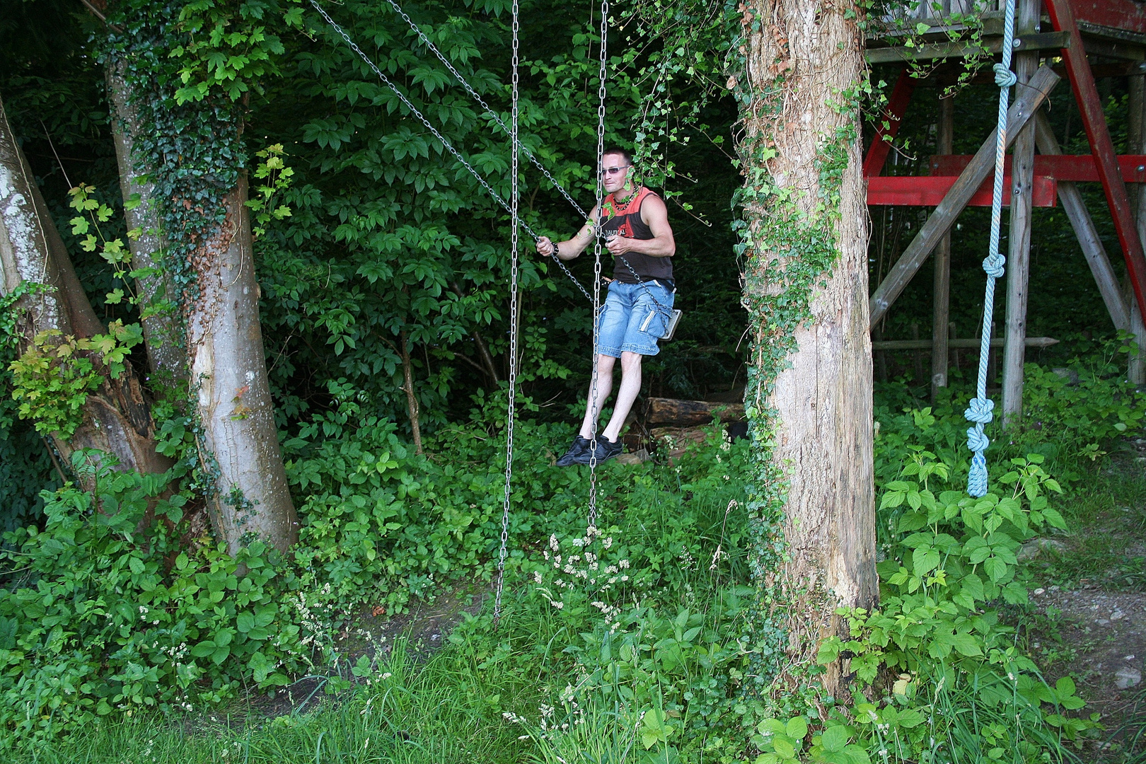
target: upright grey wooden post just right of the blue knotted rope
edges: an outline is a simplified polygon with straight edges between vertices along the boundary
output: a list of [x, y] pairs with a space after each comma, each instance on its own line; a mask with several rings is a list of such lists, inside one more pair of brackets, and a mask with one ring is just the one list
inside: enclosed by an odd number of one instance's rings
[[[1019, 0], [1015, 33], [1038, 31], [1039, 0]], [[1038, 53], [1015, 56], [1019, 78], [1015, 89], [1022, 89], [1038, 69]], [[1006, 266], [1006, 346], [1003, 349], [1003, 426], [1022, 416], [1022, 362], [1027, 337], [1027, 285], [1030, 281], [1031, 192], [1035, 184], [1035, 126], [1031, 123], [1014, 139], [1011, 160], [1011, 233]]]

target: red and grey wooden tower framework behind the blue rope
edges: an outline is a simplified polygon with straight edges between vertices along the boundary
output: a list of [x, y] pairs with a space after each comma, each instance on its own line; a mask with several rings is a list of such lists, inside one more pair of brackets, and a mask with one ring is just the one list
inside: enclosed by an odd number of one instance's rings
[[[950, 7], [951, 0], [944, 1]], [[1007, 372], [1004, 370], [1004, 415], [1018, 416], [1021, 402], [1021, 347], [1025, 341], [1026, 325], [1026, 278], [1029, 263], [1030, 214], [1031, 206], [1055, 206], [1061, 200], [1072, 225], [1078, 235], [1084, 254], [1102, 291], [1104, 300], [1110, 310], [1115, 326], [1131, 329], [1139, 336], [1139, 345], [1146, 351], [1146, 329], [1141, 325], [1141, 315], [1146, 315], [1146, 254], [1139, 236], [1138, 210], [1131, 206], [1127, 183], [1146, 183], [1146, 6], [1136, 0], [1018, 0], [1015, 40], [1015, 71], [1020, 84], [1012, 90], [1014, 104], [1008, 115], [1008, 144], [1014, 141], [1014, 164], [1019, 170], [1011, 172], [1012, 158], [1007, 157], [1007, 176], [1005, 182], [1004, 204], [1011, 205], [1012, 196], [1018, 195], [1020, 208], [1012, 210], [1012, 234], [1008, 257], [1007, 285], [1007, 357], [1018, 359], [1011, 363], [1012, 372], [1018, 373], [1018, 395], [1007, 400]], [[996, 14], [998, 15], [998, 14]], [[986, 18], [986, 17], [984, 17]], [[944, 19], [924, 19], [940, 37], [947, 23]], [[996, 22], [997, 25], [997, 22]], [[999, 27], [1000, 29], [1000, 27]], [[1007, 41], [998, 38], [988, 41], [991, 49], [998, 50]], [[928, 41], [927, 34], [924, 36]], [[924, 50], [920, 53], [920, 50]], [[957, 56], [960, 48], [950, 44], [931, 42], [924, 48], [912, 50], [897, 48], [876, 48], [869, 50], [873, 62], [889, 62], [909, 56], [941, 57]], [[1130, 143], [1136, 151], [1125, 156], [1114, 152], [1114, 144], [1107, 128], [1102, 104], [1094, 84], [1094, 69], [1090, 58], [1096, 58], [1096, 66], [1102, 74], [1129, 74], [1131, 77], [1131, 113], [1130, 124], [1137, 133], [1130, 136]], [[1112, 60], [1114, 63], [1112, 63]], [[1037, 71], [1036, 71], [1037, 70]], [[1062, 156], [1058, 142], [1049, 128], [1044, 115], [1038, 109], [1045, 102], [1050, 90], [1061, 76], [1069, 79], [1070, 88], [1082, 124], [1090, 143], [1091, 153], [1083, 156]], [[1136, 79], [1137, 78], [1137, 79]], [[1037, 81], [1036, 81], [1037, 80]], [[872, 325], [886, 315], [888, 308], [918, 271], [923, 261], [935, 252], [936, 268], [941, 265], [948, 268], [947, 261], [941, 263], [941, 249], [949, 241], [949, 231], [958, 213], [967, 205], [989, 206], [991, 197], [991, 178], [988, 164], [994, 162], [994, 133], [984, 142], [983, 150], [975, 157], [941, 155], [932, 157], [929, 174], [924, 176], [886, 176], [882, 174], [892, 142], [898, 131], [901, 120], [906, 113], [912, 95], [920, 82], [909, 77], [904, 69], [888, 100], [885, 120], [877, 128], [877, 134], [864, 158], [863, 172], [868, 180], [868, 204], [902, 205], [935, 207], [928, 221], [916, 235], [916, 239], [902, 253], [900, 260], [892, 267], [887, 277], [878, 285], [871, 298]], [[924, 80], [923, 85], [926, 85]], [[1031, 93], [1030, 90], [1038, 90]], [[1136, 97], [1137, 94], [1137, 97]], [[944, 112], [948, 120], [947, 142], [950, 142], [952, 109]], [[1137, 120], [1137, 121], [1136, 121]], [[1137, 125], [1137, 128], [1133, 127]], [[943, 134], [940, 126], [940, 134]], [[1037, 142], [1041, 153], [1034, 155]], [[941, 139], [940, 144], [942, 145]], [[941, 148], [942, 150], [942, 148]], [[947, 149], [950, 151], [950, 149]], [[1117, 231], [1122, 257], [1127, 263], [1127, 281], [1132, 298], [1127, 301], [1117, 286], [1117, 278], [1110, 269], [1109, 261], [1102, 250], [1101, 242], [1093, 233], [1093, 222], [1089, 218], [1085, 205], [1081, 202], [1074, 183], [1100, 182], [1106, 195], [1107, 206]], [[1141, 195], [1146, 197], [1146, 192]], [[1138, 206], [1138, 205], [1136, 205]], [[1146, 204], [1143, 218], [1146, 218]], [[1026, 226], [1017, 231], [1014, 226]], [[1146, 229], [1146, 226], [1143, 226]], [[1025, 234], [1019, 235], [1019, 234]], [[948, 245], [949, 246], [949, 245]], [[1026, 247], [1026, 251], [1023, 250]], [[945, 277], [936, 274], [936, 290], [947, 290]], [[1012, 283], [1014, 279], [1022, 283]], [[1021, 297], [1022, 314], [1012, 317], [1012, 294]], [[945, 386], [947, 377], [947, 300], [948, 294], [936, 292], [936, 331], [935, 354], [933, 354], [933, 387]], [[943, 305], [940, 306], [940, 301]], [[942, 308], [942, 309], [941, 309]], [[937, 322], [942, 320], [942, 325]], [[1018, 326], [1012, 331], [1012, 324]], [[942, 348], [940, 346], [943, 346]], [[1018, 347], [1017, 352], [1014, 348]], [[942, 351], [942, 353], [940, 353]], [[939, 356], [943, 357], [940, 359]], [[939, 367], [942, 367], [941, 369]], [[1146, 367], [1144, 367], [1146, 369]], [[1146, 372], [1132, 370], [1143, 377], [1136, 379], [1146, 383]], [[1014, 375], [1012, 375], [1013, 377]], [[1014, 387], [1012, 384], [1011, 387]]]

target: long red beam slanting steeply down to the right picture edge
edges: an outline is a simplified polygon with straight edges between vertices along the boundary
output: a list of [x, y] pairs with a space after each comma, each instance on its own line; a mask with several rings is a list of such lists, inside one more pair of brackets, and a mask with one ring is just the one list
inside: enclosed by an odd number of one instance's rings
[[1102, 102], [1098, 97], [1098, 88], [1094, 87], [1090, 62], [1086, 61], [1086, 49], [1083, 48], [1082, 36], [1078, 33], [1078, 25], [1075, 24], [1068, 0], [1045, 0], [1045, 5], [1054, 31], [1070, 34], [1070, 47], [1061, 48], [1062, 61], [1067, 65], [1075, 101], [1078, 102], [1091, 153], [1094, 155], [1098, 178], [1102, 182], [1102, 190], [1106, 191], [1106, 203], [1114, 216], [1114, 228], [1118, 233], [1122, 255], [1127, 260], [1127, 273], [1135, 289], [1135, 299], [1138, 300], [1138, 309], [1146, 316], [1146, 293], [1143, 292], [1146, 288], [1146, 255], [1143, 253], [1143, 243], [1135, 228], [1130, 197], [1127, 195], [1127, 184], [1122, 182], [1110, 131], [1106, 126], [1106, 115], [1102, 112]]

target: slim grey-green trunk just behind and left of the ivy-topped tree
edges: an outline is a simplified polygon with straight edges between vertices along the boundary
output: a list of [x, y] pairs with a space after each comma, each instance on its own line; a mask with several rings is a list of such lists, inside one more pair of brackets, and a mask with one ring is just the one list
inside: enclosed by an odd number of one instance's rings
[[[142, 315], [143, 340], [152, 375], [164, 383], [187, 380], [187, 353], [183, 347], [183, 328], [178, 309], [178, 297], [170, 274], [163, 266], [163, 239], [159, 222], [159, 200], [155, 198], [152, 167], [140, 167], [134, 155], [139, 134], [139, 115], [131, 102], [131, 92], [124, 79], [124, 62], [108, 63], [108, 101], [111, 105], [111, 135], [116, 143], [119, 164], [119, 188], [127, 203], [139, 197], [134, 208], [125, 208], [127, 228], [139, 229], [140, 236], [128, 241], [132, 268], [147, 275], [136, 279], [139, 308]], [[129, 205], [126, 205], [129, 206]]]

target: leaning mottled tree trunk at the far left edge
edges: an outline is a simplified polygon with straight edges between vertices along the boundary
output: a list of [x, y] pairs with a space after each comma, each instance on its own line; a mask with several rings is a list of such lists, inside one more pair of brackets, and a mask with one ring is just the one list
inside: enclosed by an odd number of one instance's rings
[[[16, 308], [21, 349], [28, 351], [45, 332], [58, 332], [47, 340], [52, 346], [73, 337], [88, 339], [107, 330], [92, 309], [84, 288], [76, 277], [71, 258], [47, 211], [24, 152], [16, 142], [8, 116], [0, 103], [0, 292], [9, 294], [25, 286], [44, 285], [26, 293]], [[58, 357], [45, 369], [60, 373], [60, 367], [74, 362]], [[68, 434], [53, 432], [52, 439], [64, 459], [83, 448], [113, 454], [121, 468], [164, 472], [171, 460], [155, 450], [151, 410], [131, 363], [112, 378], [101, 368], [99, 386], [83, 396], [74, 413], [78, 422]]]

